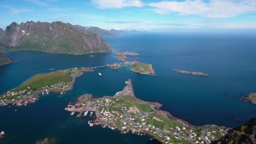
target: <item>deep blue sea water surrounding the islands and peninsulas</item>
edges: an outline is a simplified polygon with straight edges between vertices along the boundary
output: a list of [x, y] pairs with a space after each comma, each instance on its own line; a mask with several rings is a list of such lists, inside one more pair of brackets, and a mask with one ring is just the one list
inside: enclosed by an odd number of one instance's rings
[[[76, 118], [64, 110], [83, 93], [96, 98], [112, 96], [123, 89], [128, 78], [132, 79], [136, 97], [158, 101], [163, 104], [163, 110], [193, 125], [236, 127], [256, 117], [256, 105], [238, 100], [239, 95], [256, 92], [256, 35], [145, 33], [104, 40], [112, 44], [113, 50], [139, 53], [128, 60], [152, 64], [157, 76], [131, 72], [131, 66], [125, 65], [117, 70], [98, 68], [78, 77], [74, 89], [64, 95], [43, 95], [27, 107], [0, 107], [0, 130], [7, 133], [0, 142], [32, 144], [44, 137], [57, 137], [58, 144], [152, 143], [149, 136], [124, 135], [100, 126], [91, 128], [87, 124], [90, 117]], [[0, 66], [0, 93], [38, 73], [120, 62], [115, 59], [115, 53], [69, 55], [17, 51], [5, 54], [16, 62]], [[211, 77], [183, 75], [173, 69], [204, 72]]]

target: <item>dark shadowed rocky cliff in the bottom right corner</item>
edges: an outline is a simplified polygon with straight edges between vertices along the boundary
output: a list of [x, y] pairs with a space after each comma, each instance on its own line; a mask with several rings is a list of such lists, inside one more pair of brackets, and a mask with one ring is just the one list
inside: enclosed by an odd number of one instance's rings
[[256, 144], [256, 117], [234, 128], [219, 141], [220, 144]]

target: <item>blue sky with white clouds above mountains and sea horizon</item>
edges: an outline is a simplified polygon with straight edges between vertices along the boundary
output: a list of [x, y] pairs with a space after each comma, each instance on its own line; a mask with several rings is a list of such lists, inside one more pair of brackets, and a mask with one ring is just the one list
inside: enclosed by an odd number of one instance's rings
[[103, 29], [256, 29], [256, 0], [0, 0], [0, 27], [13, 21]]

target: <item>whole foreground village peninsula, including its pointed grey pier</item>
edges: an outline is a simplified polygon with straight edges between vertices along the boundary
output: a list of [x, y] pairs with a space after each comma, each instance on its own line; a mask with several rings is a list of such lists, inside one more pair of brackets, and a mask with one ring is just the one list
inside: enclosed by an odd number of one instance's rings
[[195, 127], [161, 111], [162, 104], [137, 99], [131, 80], [114, 96], [93, 99], [84, 94], [65, 108], [76, 117], [94, 116], [88, 125], [119, 130], [120, 133], [149, 134], [165, 144], [210, 144], [227, 134], [229, 128], [216, 125]]

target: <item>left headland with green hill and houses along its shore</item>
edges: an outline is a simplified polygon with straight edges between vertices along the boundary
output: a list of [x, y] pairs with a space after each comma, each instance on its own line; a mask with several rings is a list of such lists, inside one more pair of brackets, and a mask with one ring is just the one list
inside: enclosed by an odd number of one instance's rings
[[[35, 75], [17, 88], [13, 88], [0, 96], [0, 106], [13, 104], [26, 106], [39, 99], [39, 95], [65, 93], [72, 90], [75, 78], [83, 75], [83, 72], [92, 72], [91, 68], [72, 68], [56, 72]], [[42, 81], [43, 80], [43, 81]]]

